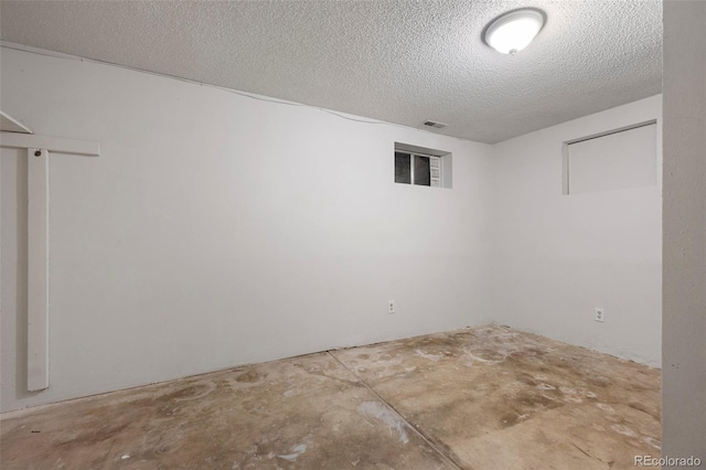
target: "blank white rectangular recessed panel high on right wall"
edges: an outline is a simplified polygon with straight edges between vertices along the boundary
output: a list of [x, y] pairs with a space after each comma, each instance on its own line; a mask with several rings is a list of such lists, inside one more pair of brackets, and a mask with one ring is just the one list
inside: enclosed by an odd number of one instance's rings
[[565, 193], [657, 184], [656, 122], [567, 142]]

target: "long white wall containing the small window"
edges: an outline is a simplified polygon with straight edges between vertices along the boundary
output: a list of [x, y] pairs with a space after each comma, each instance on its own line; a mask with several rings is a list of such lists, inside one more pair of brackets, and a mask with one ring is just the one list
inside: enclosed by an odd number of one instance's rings
[[[51, 157], [51, 385], [33, 394], [25, 157], [3, 150], [3, 412], [491, 320], [489, 146], [114, 66], [0, 60], [4, 111], [101, 145]], [[395, 141], [452, 152], [453, 189], [393, 183]]]

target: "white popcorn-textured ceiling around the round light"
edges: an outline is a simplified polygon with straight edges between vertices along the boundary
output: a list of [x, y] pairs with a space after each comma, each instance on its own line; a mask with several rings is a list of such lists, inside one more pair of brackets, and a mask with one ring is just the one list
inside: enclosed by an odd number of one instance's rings
[[[524, 51], [481, 40], [547, 13]], [[7, 1], [3, 41], [498, 142], [655, 95], [661, 0]]]

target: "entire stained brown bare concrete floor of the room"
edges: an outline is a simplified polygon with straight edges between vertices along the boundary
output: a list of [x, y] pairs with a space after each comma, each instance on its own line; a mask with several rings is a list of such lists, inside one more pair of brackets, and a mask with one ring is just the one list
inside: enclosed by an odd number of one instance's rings
[[2, 469], [634, 469], [660, 371], [503, 327], [6, 414]]

